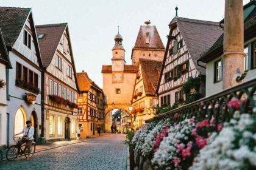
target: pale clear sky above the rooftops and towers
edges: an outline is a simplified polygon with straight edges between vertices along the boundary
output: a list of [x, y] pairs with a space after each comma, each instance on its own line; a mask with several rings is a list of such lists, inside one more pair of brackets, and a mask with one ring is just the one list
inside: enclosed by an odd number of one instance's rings
[[[126, 64], [140, 25], [151, 20], [166, 46], [175, 16], [207, 21], [224, 18], [224, 0], [0, 0], [0, 6], [32, 8], [35, 24], [68, 22], [76, 72], [85, 70], [102, 87], [101, 67], [111, 64], [114, 36], [123, 36]], [[244, 4], [249, 0], [244, 0]]]

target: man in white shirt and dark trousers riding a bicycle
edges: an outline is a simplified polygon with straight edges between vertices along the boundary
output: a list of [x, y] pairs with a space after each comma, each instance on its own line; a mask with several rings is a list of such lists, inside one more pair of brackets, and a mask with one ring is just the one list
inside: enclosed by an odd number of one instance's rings
[[18, 134], [15, 134], [15, 136], [23, 134], [23, 137], [21, 138], [21, 140], [18, 141], [18, 144], [17, 144], [18, 145], [18, 152], [20, 152], [20, 150], [21, 150], [21, 145], [23, 143], [27, 143], [27, 152], [28, 152], [27, 160], [29, 160], [30, 152], [31, 152], [31, 144], [32, 144], [32, 141], [34, 140], [34, 131], [35, 131], [35, 129], [34, 129], [33, 126], [31, 126], [31, 121], [30, 120], [27, 120], [26, 124], [27, 124], [27, 126], [24, 126], [23, 131], [18, 133]]

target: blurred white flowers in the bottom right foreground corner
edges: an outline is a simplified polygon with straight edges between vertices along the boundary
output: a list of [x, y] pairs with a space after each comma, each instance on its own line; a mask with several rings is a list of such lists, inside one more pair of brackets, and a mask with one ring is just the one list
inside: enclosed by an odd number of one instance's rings
[[219, 135], [209, 138], [190, 169], [256, 169], [255, 127], [256, 115], [236, 111]]

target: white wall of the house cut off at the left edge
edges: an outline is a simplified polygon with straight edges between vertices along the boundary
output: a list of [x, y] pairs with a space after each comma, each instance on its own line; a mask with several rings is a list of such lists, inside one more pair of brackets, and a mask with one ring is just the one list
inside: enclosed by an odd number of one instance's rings
[[[0, 63], [0, 80], [5, 79], [5, 65]], [[6, 87], [0, 89], [0, 147], [7, 143]]]

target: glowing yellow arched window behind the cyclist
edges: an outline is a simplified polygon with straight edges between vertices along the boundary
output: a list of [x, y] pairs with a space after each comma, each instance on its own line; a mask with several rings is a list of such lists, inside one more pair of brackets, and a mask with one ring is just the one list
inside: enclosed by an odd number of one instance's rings
[[[24, 126], [26, 126], [26, 112], [24, 109], [19, 108], [16, 111], [15, 118], [14, 118], [14, 135], [19, 134], [23, 131]], [[19, 134], [16, 137], [23, 137], [23, 134]]]

